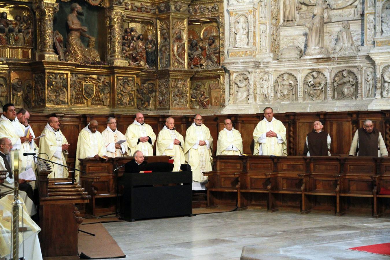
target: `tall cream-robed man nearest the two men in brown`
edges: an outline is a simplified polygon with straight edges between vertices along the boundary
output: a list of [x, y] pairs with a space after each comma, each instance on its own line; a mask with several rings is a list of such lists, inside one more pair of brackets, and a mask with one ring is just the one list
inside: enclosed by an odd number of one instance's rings
[[253, 155], [287, 155], [286, 127], [273, 117], [273, 109], [264, 108], [264, 119], [253, 132], [255, 148]]

